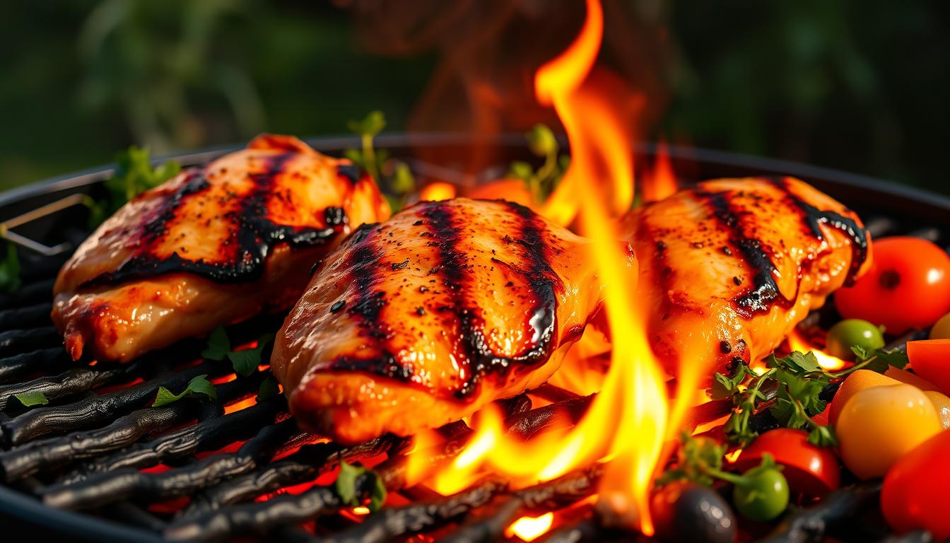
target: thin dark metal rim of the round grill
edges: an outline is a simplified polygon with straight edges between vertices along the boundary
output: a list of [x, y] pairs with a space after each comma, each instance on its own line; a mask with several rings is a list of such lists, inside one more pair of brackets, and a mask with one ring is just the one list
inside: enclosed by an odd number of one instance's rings
[[[305, 141], [312, 145], [314, 149], [328, 153], [338, 153], [345, 148], [359, 145], [358, 138], [350, 136], [310, 138]], [[522, 134], [502, 134], [495, 138], [485, 139], [457, 133], [412, 135], [388, 133], [382, 134], [376, 139], [376, 144], [379, 147], [401, 147], [406, 149], [462, 146], [486, 142], [511, 152], [523, 151], [526, 148]], [[218, 145], [192, 152], [162, 156], [153, 162], [161, 163], [166, 160], [177, 160], [183, 166], [199, 165], [241, 147], [242, 145]], [[653, 157], [656, 155], [656, 145], [653, 144], [636, 145], [634, 150], [638, 156]], [[871, 207], [881, 207], [886, 204], [885, 208], [896, 210], [897, 215], [906, 216], [921, 207], [928, 208], [928, 215], [950, 212], [950, 197], [842, 170], [693, 147], [670, 146], [668, 152], [674, 161], [693, 163], [699, 165], [699, 169], [713, 167], [746, 172], [743, 175], [748, 175], [749, 172], [758, 172], [759, 175], [780, 174], [801, 177], [818, 185], [820, 189], [825, 190], [832, 196], [845, 200], [845, 202], [861, 201], [863, 205]], [[4, 207], [20, 204], [30, 198], [47, 197], [52, 199], [55, 196], [72, 192], [82, 192], [84, 188], [101, 183], [111, 174], [113, 168], [114, 165], [95, 166], [0, 193], [0, 211]], [[703, 177], [708, 178], [709, 176]], [[882, 199], [887, 200], [882, 202]], [[950, 225], [945, 216], [943, 221], [933, 221], [929, 217], [922, 220]], [[57, 533], [82, 534], [83, 538], [89, 540], [170, 541], [161, 537], [161, 534], [134, 525], [122, 524], [104, 516], [49, 507], [27, 492], [2, 484], [0, 484], [0, 514], [19, 518], [28, 524]]]

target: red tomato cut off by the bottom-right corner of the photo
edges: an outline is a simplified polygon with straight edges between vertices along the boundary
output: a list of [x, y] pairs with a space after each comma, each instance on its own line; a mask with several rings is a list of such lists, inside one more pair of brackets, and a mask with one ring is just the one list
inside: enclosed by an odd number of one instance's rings
[[902, 456], [884, 476], [881, 509], [898, 532], [922, 529], [950, 537], [950, 431], [927, 439]]

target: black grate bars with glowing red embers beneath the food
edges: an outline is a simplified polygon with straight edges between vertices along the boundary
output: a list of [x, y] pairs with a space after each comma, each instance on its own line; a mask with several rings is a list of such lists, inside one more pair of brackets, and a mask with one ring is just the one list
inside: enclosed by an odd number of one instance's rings
[[[941, 241], [936, 227], [903, 223], [882, 215], [867, 225], [874, 237], [908, 232]], [[596, 492], [598, 467], [515, 491], [491, 478], [452, 496], [406, 488], [408, 439], [382, 436], [346, 447], [309, 436], [297, 429], [283, 397], [255, 400], [266, 368], [226, 380], [230, 363], [201, 360], [200, 341], [182, 341], [117, 367], [73, 362], [49, 325], [51, 277], [60, 263], [61, 258], [47, 259], [33, 266], [18, 292], [0, 295], [0, 307], [7, 308], [0, 310], [0, 480], [49, 507], [109, 519], [113, 524], [97, 525], [100, 533], [198, 541], [249, 534], [285, 541], [370, 543], [418, 534], [423, 538], [413, 540], [492, 541], [503, 539], [519, 515], [562, 510]], [[256, 337], [276, 323], [252, 320], [229, 334]], [[186, 398], [150, 407], [160, 386], [181, 390], [202, 374], [222, 379], [217, 401]], [[25, 409], [13, 399], [37, 391], [48, 405]], [[547, 385], [533, 394], [552, 403], [533, 407], [527, 396], [499, 402], [510, 434], [530, 437], [550, 430], [563, 420], [555, 417], [559, 411], [576, 421], [592, 398]], [[711, 421], [728, 410], [725, 402], [710, 402], [692, 417]], [[441, 431], [447, 440], [425, 452], [432, 462], [456, 456], [471, 434], [462, 421]], [[341, 461], [356, 460], [378, 461], [374, 472], [393, 495], [390, 507], [359, 521], [329, 484]], [[357, 490], [368, 496], [370, 482], [358, 479]], [[295, 490], [284, 490], [289, 487]], [[873, 485], [840, 491], [790, 514], [768, 540], [883, 536], [880, 530], [868, 535], [860, 530], [872, 528], [856, 528], [860, 515], [876, 507], [879, 491]], [[629, 540], [629, 533], [601, 526], [589, 509], [576, 509], [573, 516], [561, 516], [561, 527], [547, 534], [548, 541]], [[106, 529], [118, 524], [136, 532]], [[901, 540], [924, 541], [926, 534]]]

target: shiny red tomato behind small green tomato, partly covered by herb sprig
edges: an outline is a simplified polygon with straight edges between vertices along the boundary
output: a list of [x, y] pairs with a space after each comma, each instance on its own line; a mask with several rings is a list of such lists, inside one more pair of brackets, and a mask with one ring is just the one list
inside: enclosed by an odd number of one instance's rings
[[746, 471], [759, 465], [764, 453], [785, 466], [782, 474], [788, 479], [792, 493], [826, 495], [841, 483], [841, 468], [831, 449], [815, 447], [807, 441], [803, 430], [776, 428], [755, 438], [735, 460], [735, 467]]

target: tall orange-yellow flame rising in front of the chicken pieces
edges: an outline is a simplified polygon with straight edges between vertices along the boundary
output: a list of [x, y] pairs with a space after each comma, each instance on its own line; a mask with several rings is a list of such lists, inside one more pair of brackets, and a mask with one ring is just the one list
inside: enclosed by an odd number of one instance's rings
[[[544, 211], [563, 224], [577, 219], [581, 234], [593, 240], [591, 258], [599, 263], [605, 285], [606, 326], [621, 331], [612, 335], [609, 371], [577, 425], [554, 424], [554, 430], [523, 441], [505, 434], [501, 410], [489, 405], [472, 417], [475, 432], [459, 456], [431, 474], [425, 454], [410, 455], [408, 479], [453, 494], [487, 473], [505, 475], [517, 487], [606, 462], [599, 487], [601, 513], [650, 535], [654, 529], [648, 503], [657, 466], [669, 455], [669, 440], [695, 399], [699, 371], [680, 372], [679, 392], [671, 405], [666, 376], [637, 310], [636, 261], [629, 245], [617, 242], [621, 237], [614, 216], [633, 201], [632, 140], [613, 114], [616, 104], [599, 93], [602, 87], [585, 83], [602, 29], [599, 1], [588, 0], [580, 35], [538, 71], [535, 88], [539, 101], [553, 105], [561, 117], [572, 152], [571, 165]], [[584, 186], [591, 182], [600, 185]], [[434, 432], [424, 433], [417, 436], [415, 448], [426, 449], [438, 439]]]

